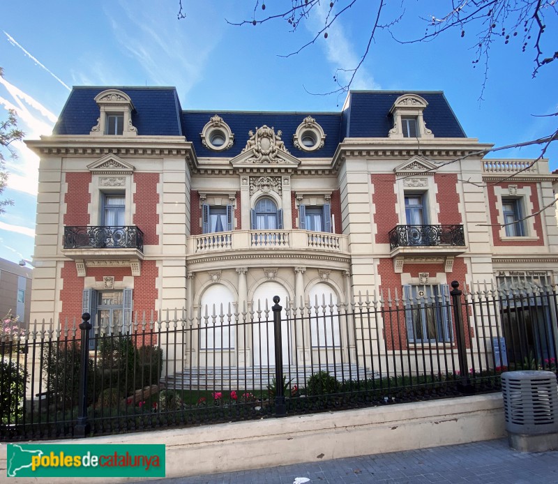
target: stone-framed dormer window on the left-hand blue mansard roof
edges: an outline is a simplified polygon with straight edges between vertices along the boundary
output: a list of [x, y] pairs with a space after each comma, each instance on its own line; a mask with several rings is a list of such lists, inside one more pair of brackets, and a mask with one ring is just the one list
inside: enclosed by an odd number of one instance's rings
[[135, 111], [128, 94], [118, 89], [107, 89], [95, 96], [99, 107], [96, 126], [91, 128], [91, 136], [136, 136], [137, 129], [132, 124]]

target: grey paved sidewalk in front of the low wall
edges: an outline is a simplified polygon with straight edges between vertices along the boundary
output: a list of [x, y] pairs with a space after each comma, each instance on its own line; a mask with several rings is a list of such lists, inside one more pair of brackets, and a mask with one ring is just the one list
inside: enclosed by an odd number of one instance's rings
[[[272, 451], [272, 449], [270, 449]], [[558, 451], [521, 453], [507, 439], [268, 469], [149, 481], [149, 484], [558, 483]]]

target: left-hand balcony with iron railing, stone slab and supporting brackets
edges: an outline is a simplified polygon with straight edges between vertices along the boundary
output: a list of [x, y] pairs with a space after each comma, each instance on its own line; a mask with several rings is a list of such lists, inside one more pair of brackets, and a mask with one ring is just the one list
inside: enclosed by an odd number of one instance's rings
[[78, 275], [85, 275], [86, 266], [122, 265], [139, 275], [143, 252], [144, 233], [135, 225], [64, 227], [62, 253], [75, 260]]

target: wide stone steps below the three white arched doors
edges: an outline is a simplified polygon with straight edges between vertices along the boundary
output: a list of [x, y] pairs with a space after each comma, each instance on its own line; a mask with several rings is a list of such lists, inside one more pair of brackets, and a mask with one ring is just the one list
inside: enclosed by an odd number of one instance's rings
[[[306, 386], [306, 381], [312, 374], [319, 371], [329, 372], [338, 381], [372, 378], [372, 372], [356, 364], [338, 363], [329, 365], [308, 365], [299, 367], [283, 367], [283, 375], [286, 381], [301, 388]], [[275, 377], [274, 366], [249, 366], [249, 367], [197, 367], [188, 368], [174, 375], [163, 377], [161, 382], [167, 388], [176, 390], [219, 390], [221, 388], [232, 388], [242, 390], [259, 390], [267, 388]], [[375, 377], [379, 377], [376, 372]]]

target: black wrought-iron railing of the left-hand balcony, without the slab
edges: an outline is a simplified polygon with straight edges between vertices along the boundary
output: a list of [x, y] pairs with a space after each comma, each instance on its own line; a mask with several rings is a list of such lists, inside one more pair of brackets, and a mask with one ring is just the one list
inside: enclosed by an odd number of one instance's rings
[[139, 227], [64, 227], [65, 249], [137, 249], [144, 250], [144, 233]]

